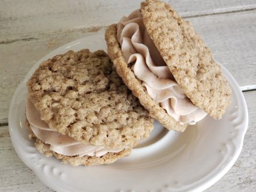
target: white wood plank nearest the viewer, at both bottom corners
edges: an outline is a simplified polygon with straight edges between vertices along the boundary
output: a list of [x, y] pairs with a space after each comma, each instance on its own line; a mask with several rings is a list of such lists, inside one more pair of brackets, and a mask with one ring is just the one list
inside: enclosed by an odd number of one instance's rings
[[[249, 110], [249, 128], [242, 153], [232, 169], [206, 191], [254, 191], [256, 189], [256, 91], [244, 93]], [[19, 160], [8, 127], [0, 127], [0, 191], [52, 191]]]

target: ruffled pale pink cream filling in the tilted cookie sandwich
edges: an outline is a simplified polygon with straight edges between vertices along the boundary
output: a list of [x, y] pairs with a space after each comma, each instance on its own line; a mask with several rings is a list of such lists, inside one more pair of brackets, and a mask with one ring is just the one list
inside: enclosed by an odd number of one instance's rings
[[207, 115], [176, 83], [144, 27], [141, 10], [122, 17], [117, 26], [117, 40], [125, 60], [133, 64], [131, 69], [147, 93], [177, 122], [195, 124]]

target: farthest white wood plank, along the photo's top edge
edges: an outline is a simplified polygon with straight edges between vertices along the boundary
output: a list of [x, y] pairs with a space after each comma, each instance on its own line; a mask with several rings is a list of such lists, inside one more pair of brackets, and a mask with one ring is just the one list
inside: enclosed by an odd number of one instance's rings
[[[255, 0], [167, 1], [181, 16], [216, 14], [256, 8]], [[48, 31], [107, 26], [140, 7], [138, 0], [46, 0], [0, 2], [0, 38], [10, 39]]]

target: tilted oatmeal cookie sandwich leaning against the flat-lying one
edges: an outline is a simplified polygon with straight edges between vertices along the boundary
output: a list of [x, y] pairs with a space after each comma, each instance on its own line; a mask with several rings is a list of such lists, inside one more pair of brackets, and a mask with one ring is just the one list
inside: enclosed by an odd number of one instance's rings
[[212, 53], [170, 5], [155, 0], [123, 16], [105, 33], [119, 76], [150, 115], [184, 131], [207, 114], [220, 119], [231, 90]]

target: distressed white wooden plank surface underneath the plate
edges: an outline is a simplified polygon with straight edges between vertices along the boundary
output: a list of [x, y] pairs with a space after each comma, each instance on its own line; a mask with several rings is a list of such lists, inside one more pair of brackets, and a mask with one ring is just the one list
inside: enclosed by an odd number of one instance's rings
[[[236, 164], [207, 191], [256, 191], [256, 1], [173, 0], [180, 15], [236, 78], [249, 128]], [[0, 191], [52, 191], [19, 160], [7, 124], [10, 99], [24, 76], [53, 49], [118, 22], [139, 7], [130, 0], [0, 1]]]

